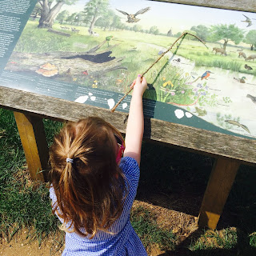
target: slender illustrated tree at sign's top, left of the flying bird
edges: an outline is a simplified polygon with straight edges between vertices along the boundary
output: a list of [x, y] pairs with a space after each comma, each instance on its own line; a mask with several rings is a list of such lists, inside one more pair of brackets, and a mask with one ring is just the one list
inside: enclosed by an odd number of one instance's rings
[[84, 8], [86, 16], [91, 18], [89, 32], [94, 31], [95, 22], [108, 10], [109, 0], [90, 0]]

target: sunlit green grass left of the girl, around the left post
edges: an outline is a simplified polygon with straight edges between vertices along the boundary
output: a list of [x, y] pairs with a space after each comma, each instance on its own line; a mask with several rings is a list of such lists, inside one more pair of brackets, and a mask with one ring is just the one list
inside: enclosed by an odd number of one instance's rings
[[[22, 227], [33, 226], [30, 238], [56, 230], [49, 194], [40, 182], [31, 183], [12, 112], [0, 109], [0, 235], [7, 240]], [[49, 129], [46, 129], [49, 130]]]

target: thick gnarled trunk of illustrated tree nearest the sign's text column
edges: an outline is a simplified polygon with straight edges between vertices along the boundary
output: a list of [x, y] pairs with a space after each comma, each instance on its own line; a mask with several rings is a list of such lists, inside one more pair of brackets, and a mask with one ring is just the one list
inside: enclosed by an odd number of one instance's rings
[[[39, 28], [51, 28], [54, 25], [54, 18], [59, 13], [63, 5], [74, 5], [78, 0], [39, 0], [41, 5], [41, 18], [39, 19]], [[54, 6], [53, 3], [55, 3]]]

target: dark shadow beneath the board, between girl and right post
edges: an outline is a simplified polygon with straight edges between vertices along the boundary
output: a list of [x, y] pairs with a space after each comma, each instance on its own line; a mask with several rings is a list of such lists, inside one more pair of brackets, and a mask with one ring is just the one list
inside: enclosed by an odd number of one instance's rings
[[197, 216], [214, 158], [143, 142], [137, 199]]

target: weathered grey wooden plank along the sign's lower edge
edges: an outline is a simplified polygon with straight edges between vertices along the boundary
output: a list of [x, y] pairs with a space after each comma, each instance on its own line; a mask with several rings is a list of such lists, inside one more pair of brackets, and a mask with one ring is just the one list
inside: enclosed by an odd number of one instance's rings
[[[118, 111], [111, 113], [110, 110], [95, 106], [1, 86], [0, 106], [57, 120], [77, 121], [79, 118], [99, 116], [112, 123], [122, 133], [126, 131], [126, 113]], [[220, 155], [244, 162], [256, 163], [256, 140], [253, 139], [182, 126], [154, 118], [146, 118], [144, 137], [157, 142], [206, 152], [213, 156]]]

